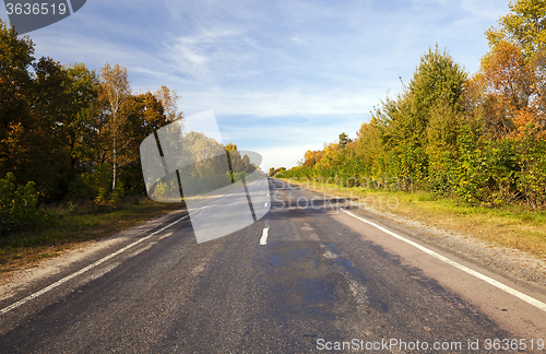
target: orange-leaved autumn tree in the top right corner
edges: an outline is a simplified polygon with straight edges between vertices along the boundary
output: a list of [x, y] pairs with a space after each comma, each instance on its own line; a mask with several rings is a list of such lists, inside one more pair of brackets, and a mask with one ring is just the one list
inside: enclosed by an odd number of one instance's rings
[[518, 0], [509, 9], [497, 27], [486, 31], [490, 51], [480, 69], [488, 118], [505, 128], [497, 138], [520, 134], [526, 125], [546, 129], [546, 2]]

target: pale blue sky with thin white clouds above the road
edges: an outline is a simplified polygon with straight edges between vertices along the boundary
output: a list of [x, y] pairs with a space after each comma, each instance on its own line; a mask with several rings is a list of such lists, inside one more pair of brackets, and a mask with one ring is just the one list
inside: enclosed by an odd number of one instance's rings
[[508, 0], [87, 0], [28, 36], [36, 58], [119, 62], [133, 92], [166, 85], [186, 117], [213, 109], [223, 142], [269, 170], [355, 138], [429, 47], [475, 72], [484, 31], [508, 11]]

